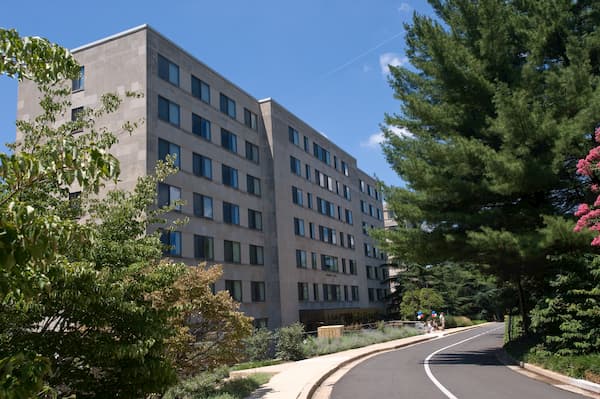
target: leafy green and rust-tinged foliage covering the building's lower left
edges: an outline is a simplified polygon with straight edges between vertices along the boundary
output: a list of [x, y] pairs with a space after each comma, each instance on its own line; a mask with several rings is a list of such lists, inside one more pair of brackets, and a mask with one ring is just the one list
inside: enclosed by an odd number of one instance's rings
[[109, 151], [117, 136], [95, 121], [123, 99], [103, 95], [65, 122], [63, 80], [77, 63], [14, 31], [0, 30], [0, 67], [38, 83], [42, 108], [17, 122], [22, 141], [0, 154], [0, 396], [145, 397], [178, 373], [232, 361], [251, 323], [211, 292], [220, 270], [163, 260], [158, 234], [147, 234], [164, 223], [157, 182], [173, 169], [159, 164], [132, 192], [97, 195], [119, 165]]

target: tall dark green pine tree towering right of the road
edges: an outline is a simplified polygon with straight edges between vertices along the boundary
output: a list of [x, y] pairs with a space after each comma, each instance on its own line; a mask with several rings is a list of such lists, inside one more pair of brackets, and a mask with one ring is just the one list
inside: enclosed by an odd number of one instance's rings
[[386, 192], [402, 221], [379, 233], [417, 264], [467, 262], [510, 283], [525, 327], [553, 275], [547, 227], [581, 200], [577, 155], [600, 111], [600, 4], [431, 0], [407, 24], [410, 66], [392, 67], [400, 112], [386, 157], [406, 187]]

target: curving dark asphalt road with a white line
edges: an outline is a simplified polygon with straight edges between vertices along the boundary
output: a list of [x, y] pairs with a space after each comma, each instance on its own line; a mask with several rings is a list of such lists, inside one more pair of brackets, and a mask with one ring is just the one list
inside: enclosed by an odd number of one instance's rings
[[335, 383], [331, 398], [584, 398], [504, 366], [496, 358], [503, 331], [495, 323], [369, 358]]

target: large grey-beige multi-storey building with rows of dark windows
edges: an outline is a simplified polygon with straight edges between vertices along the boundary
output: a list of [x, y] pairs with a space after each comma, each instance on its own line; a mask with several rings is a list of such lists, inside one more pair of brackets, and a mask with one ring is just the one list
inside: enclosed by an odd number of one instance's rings
[[[164, 234], [167, 254], [222, 264], [215, 289], [269, 328], [309, 325], [385, 309], [384, 255], [367, 229], [383, 227], [376, 182], [356, 159], [274, 100], [257, 100], [147, 25], [72, 50], [82, 65], [73, 117], [107, 92], [138, 91], [99, 120], [120, 134], [121, 188], [175, 154], [179, 172], [159, 205], [189, 223]], [[19, 85], [18, 118], [39, 112], [34, 85]]]

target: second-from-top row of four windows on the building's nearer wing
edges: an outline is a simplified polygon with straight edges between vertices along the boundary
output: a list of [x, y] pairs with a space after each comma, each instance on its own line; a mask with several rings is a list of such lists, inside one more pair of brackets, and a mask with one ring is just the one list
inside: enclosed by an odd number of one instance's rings
[[[158, 96], [158, 117], [159, 119], [168, 122], [174, 126], [180, 126], [180, 111], [179, 105], [167, 100], [162, 96]], [[212, 140], [211, 122], [199, 115], [192, 113], [192, 133], [203, 138], [204, 140]], [[221, 147], [227, 151], [238, 153], [238, 137], [235, 133], [221, 128]], [[260, 163], [259, 149], [256, 144], [246, 140], [245, 154], [247, 160], [256, 164]]]

